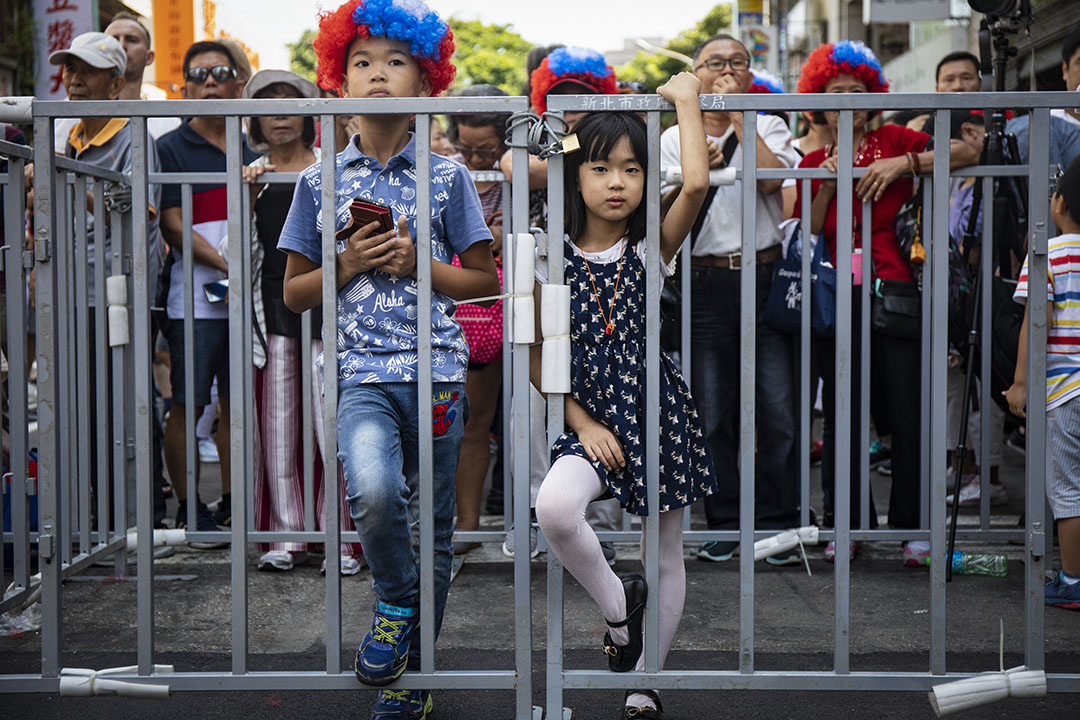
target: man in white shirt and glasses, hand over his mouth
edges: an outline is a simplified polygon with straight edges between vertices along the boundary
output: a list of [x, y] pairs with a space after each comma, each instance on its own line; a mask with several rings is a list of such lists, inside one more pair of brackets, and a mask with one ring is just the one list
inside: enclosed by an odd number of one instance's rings
[[[753, 82], [751, 56], [737, 39], [718, 35], [694, 53], [693, 71], [705, 94], [746, 93]], [[710, 165], [742, 166], [741, 112], [704, 113], [708, 136]], [[757, 116], [757, 166], [793, 167], [799, 157], [792, 134], [775, 116]], [[679, 167], [678, 128], [660, 139], [663, 167]], [[716, 463], [718, 491], [705, 498], [710, 530], [739, 528], [739, 378], [740, 378], [740, 287], [742, 285], [742, 181], [710, 189], [691, 233], [691, 389]], [[784, 529], [798, 525], [798, 473], [796, 472], [795, 383], [791, 339], [761, 322], [765, 300], [772, 283], [773, 266], [781, 259], [783, 220], [782, 180], [757, 181], [756, 249], [756, 422], [757, 464], [755, 472], [755, 527]], [[679, 188], [663, 188], [669, 206]], [[702, 560], [730, 559], [735, 542], [708, 542], [698, 557]], [[769, 558], [772, 565], [799, 560], [797, 554]]]

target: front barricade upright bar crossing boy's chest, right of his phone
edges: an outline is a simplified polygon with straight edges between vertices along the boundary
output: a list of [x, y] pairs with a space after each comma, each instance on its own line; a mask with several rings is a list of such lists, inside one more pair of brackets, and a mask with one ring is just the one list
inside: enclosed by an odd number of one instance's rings
[[431, 117], [416, 118], [417, 384], [420, 424], [420, 671], [435, 671], [435, 532], [431, 432]]

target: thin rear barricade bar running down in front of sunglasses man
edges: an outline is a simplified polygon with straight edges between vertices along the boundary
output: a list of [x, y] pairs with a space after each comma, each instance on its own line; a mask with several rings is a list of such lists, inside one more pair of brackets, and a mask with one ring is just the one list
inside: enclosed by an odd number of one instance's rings
[[[184, 225], [180, 257], [184, 260], [184, 397], [187, 399], [184, 407], [184, 458], [186, 472], [184, 483], [187, 486], [188, 512], [184, 521], [188, 529], [199, 528], [195, 519], [195, 510], [199, 505], [199, 457], [195, 451], [195, 288], [194, 288], [194, 247], [192, 241], [192, 205], [191, 186], [184, 184], [180, 186], [180, 218]], [[228, 418], [221, 418], [219, 422], [228, 422]], [[216, 440], [217, 438], [215, 438]]]

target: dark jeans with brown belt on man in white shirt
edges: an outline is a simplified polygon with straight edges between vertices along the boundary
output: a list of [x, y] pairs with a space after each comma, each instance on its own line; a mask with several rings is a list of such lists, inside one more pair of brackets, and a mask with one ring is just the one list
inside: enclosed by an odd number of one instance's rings
[[[755, 527], [798, 525], [798, 420], [792, 341], [764, 321], [773, 264], [756, 275], [757, 464]], [[717, 490], [705, 498], [711, 530], [739, 527], [740, 271], [693, 268], [690, 277], [690, 385], [716, 467]]]

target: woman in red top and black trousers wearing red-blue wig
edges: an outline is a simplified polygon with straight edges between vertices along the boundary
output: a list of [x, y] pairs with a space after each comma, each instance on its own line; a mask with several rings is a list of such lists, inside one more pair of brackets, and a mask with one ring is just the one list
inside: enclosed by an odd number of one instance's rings
[[[800, 93], [886, 93], [889, 83], [881, 72], [881, 65], [874, 53], [861, 42], [840, 41], [822, 45], [810, 54], [799, 78]], [[809, 153], [799, 167], [822, 167], [832, 173], [841, 168], [838, 163], [837, 144], [839, 137], [839, 112], [814, 113], [828, 124], [831, 141], [823, 148]], [[922, 172], [931, 172], [934, 164], [933, 150], [928, 149], [931, 137], [907, 127], [883, 125], [870, 130], [869, 121], [877, 114], [865, 110], [852, 112], [852, 157], [854, 167], [865, 167], [867, 172], [853, 182], [852, 217], [839, 218], [836, 214], [836, 180], [812, 180], [812, 201], [809, 220], [811, 232], [821, 234], [828, 243], [833, 258], [836, 257], [837, 229], [840, 222], [850, 222], [852, 229], [852, 267], [862, 264], [862, 214], [863, 203], [870, 202], [870, 254], [875, 303], [883, 296], [900, 298], [903, 295], [917, 299], [915, 276], [909, 257], [901, 250], [896, 236], [896, 215], [914, 193], [913, 178]], [[948, 142], [948, 138], [944, 138]], [[949, 148], [951, 167], [962, 167], [977, 162], [978, 153], [961, 141], [953, 141]], [[848, 168], [842, 168], [847, 171]], [[796, 186], [799, 199], [795, 203], [795, 216], [801, 209], [801, 184]], [[856, 275], [860, 276], [861, 275]], [[838, 282], [851, 279], [838, 277]], [[856, 281], [859, 282], [859, 281]], [[895, 307], [895, 305], [891, 305]], [[860, 407], [860, 363], [859, 349], [862, 335], [862, 296], [856, 290], [851, 297], [851, 404]], [[920, 519], [919, 497], [919, 391], [922, 367], [920, 350], [919, 313], [909, 322], [897, 323], [896, 315], [874, 311], [870, 335], [870, 392], [877, 432], [892, 433], [892, 489], [889, 497], [889, 526], [892, 528], [918, 528]], [[879, 322], [880, 320], [880, 322]], [[825, 409], [825, 447], [822, 459], [822, 486], [825, 494], [825, 525], [832, 526], [834, 513], [834, 488], [836, 484], [836, 348], [832, 342], [821, 343], [822, 373], [824, 381], [823, 404]], [[859, 417], [852, 413], [851, 422], [851, 525], [856, 527], [860, 517], [859, 467], [862, 447], [868, 438], [860, 437]], [[888, 427], [886, 427], [888, 425]], [[841, 432], [843, 432], [841, 430]], [[869, 503], [868, 521], [875, 524], [877, 514], [873, 499]], [[856, 547], [852, 543], [849, 552]], [[825, 559], [833, 561], [835, 543], [825, 549]], [[904, 565], [926, 566], [929, 562], [930, 543], [912, 541], [904, 545]]]

